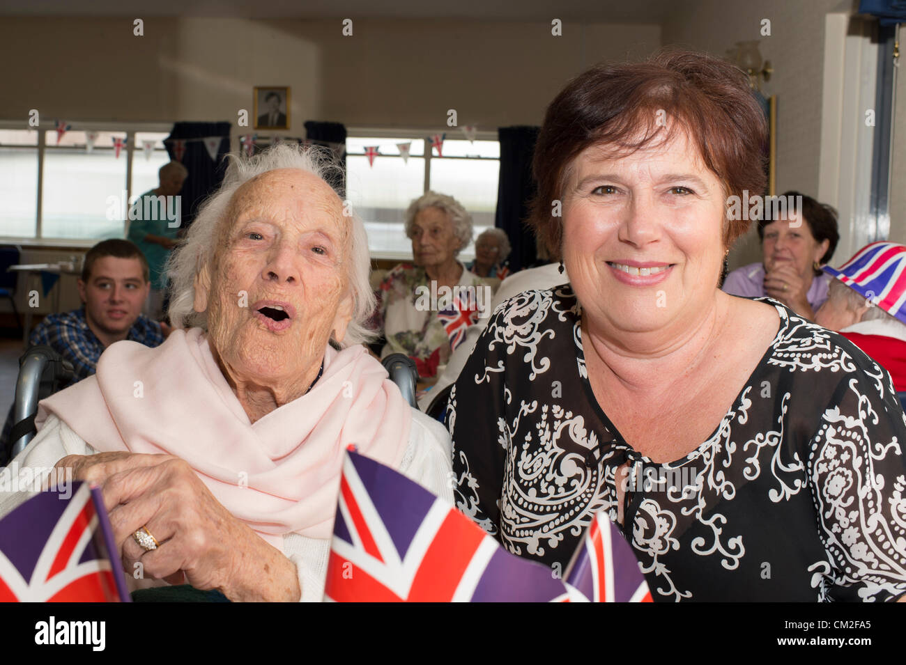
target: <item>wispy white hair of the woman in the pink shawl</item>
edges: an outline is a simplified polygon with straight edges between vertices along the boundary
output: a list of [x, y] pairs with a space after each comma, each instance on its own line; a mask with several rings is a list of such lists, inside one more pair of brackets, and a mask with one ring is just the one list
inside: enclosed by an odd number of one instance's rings
[[[175, 328], [198, 326], [207, 330], [207, 312], [197, 312], [195, 304], [195, 278], [214, 259], [217, 250], [217, 227], [226, 219], [230, 201], [236, 190], [255, 176], [280, 168], [296, 168], [325, 182], [328, 177], [342, 173], [342, 168], [333, 163], [324, 151], [317, 147], [300, 147], [281, 143], [267, 148], [255, 157], [230, 154], [226, 176], [217, 191], [210, 195], [198, 209], [195, 221], [188, 229], [185, 239], [180, 242], [167, 262], [170, 284], [170, 321]], [[350, 254], [346, 267], [349, 290], [352, 293], [352, 319], [346, 328], [342, 343], [338, 346], [352, 347], [371, 341], [374, 335], [366, 326], [371, 317], [376, 299], [368, 281], [371, 258], [368, 252], [368, 236], [365, 226], [357, 214], [352, 214]], [[332, 338], [332, 343], [336, 341]]]

